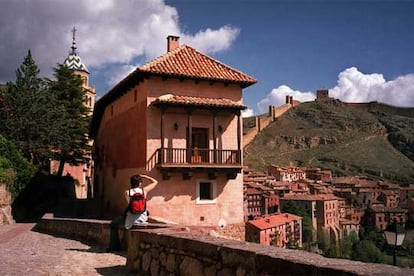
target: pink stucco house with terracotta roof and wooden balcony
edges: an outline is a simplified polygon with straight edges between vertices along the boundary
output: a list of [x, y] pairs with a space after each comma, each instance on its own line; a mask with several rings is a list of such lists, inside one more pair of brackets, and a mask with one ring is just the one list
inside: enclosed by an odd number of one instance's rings
[[95, 105], [95, 180], [106, 216], [121, 215], [134, 174], [159, 184], [154, 219], [199, 226], [243, 222], [242, 89], [256, 80], [167, 38]]

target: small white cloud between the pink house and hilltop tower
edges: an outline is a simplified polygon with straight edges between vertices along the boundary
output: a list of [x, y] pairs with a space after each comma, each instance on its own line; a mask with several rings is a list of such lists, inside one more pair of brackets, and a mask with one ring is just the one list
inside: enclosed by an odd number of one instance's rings
[[274, 88], [266, 98], [262, 99], [258, 104], [259, 113], [262, 114], [269, 110], [269, 105], [280, 106], [286, 103], [286, 96], [292, 96], [293, 100], [300, 102], [308, 102], [315, 100], [315, 94], [312, 92], [301, 92], [293, 90], [287, 85], [281, 85]]

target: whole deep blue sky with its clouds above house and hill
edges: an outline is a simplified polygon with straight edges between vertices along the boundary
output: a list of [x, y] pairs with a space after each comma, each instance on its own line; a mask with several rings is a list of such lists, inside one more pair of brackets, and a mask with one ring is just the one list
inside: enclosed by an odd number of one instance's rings
[[53, 78], [76, 27], [97, 97], [166, 52], [166, 37], [257, 79], [244, 116], [318, 89], [346, 102], [414, 107], [414, 1], [0, 0], [0, 83], [30, 49]]

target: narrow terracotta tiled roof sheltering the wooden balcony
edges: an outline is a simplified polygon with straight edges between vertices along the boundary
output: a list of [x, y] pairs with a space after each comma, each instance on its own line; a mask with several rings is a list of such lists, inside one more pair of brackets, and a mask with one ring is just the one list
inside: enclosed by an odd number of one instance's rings
[[224, 98], [205, 98], [192, 96], [179, 96], [173, 94], [166, 94], [158, 97], [154, 102], [157, 104], [172, 104], [172, 105], [189, 105], [189, 106], [207, 106], [207, 107], [227, 107], [235, 109], [245, 109], [244, 104], [234, 102]]

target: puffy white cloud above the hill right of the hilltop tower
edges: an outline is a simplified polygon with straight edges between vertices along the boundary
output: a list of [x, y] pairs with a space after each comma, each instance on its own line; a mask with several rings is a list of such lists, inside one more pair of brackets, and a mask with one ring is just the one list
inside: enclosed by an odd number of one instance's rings
[[386, 81], [382, 74], [364, 74], [351, 67], [338, 75], [329, 95], [344, 102], [378, 101], [395, 106], [414, 106], [414, 74]]

